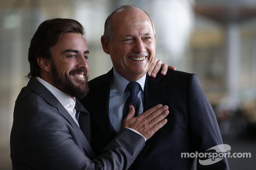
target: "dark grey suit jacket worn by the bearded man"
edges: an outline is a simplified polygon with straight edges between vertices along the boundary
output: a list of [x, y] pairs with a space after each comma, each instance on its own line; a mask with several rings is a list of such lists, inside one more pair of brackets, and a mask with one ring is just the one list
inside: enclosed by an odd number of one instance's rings
[[[76, 109], [81, 111], [79, 119], [89, 124], [81, 128], [90, 127], [89, 113], [78, 100]], [[90, 130], [83, 130], [90, 136]], [[127, 169], [142, 150], [145, 139], [129, 129], [117, 136], [104, 154], [96, 157], [67, 110], [32, 77], [15, 102], [10, 139], [12, 168]]]

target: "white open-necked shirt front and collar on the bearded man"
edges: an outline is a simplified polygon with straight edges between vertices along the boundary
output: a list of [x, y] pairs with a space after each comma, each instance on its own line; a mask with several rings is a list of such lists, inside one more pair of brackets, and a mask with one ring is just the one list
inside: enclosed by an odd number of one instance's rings
[[76, 120], [76, 117], [75, 117], [76, 116], [76, 109], [75, 109], [76, 99], [74, 99], [75, 100], [74, 101], [67, 94], [65, 94], [64, 92], [60, 91], [59, 89], [57, 89], [53, 85], [47, 83], [42, 78], [36, 77], [36, 79], [40, 83], [42, 83], [60, 101], [62, 106], [65, 107], [65, 109], [68, 111], [69, 115], [74, 119], [76, 124], [79, 126], [79, 124], [78, 124], [78, 122]]

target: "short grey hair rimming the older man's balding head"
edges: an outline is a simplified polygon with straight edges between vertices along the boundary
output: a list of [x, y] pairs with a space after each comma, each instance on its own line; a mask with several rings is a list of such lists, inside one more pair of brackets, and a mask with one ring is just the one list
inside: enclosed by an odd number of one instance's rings
[[[123, 6], [118, 7], [115, 11], [113, 11], [108, 16], [108, 18], [106, 19], [106, 22], [105, 22], [105, 26], [104, 26], [104, 36], [109, 42], [112, 42], [112, 40], [114, 38], [114, 29], [112, 26], [112, 20], [113, 20], [115, 14], [117, 14], [121, 11], [124, 11], [124, 10], [134, 11], [134, 10], [141, 10], [141, 9], [135, 5], [123, 5]], [[142, 10], [142, 11], [148, 15], [148, 18], [150, 19], [151, 24], [152, 24], [153, 33], [155, 34], [156, 31], [155, 31], [155, 26], [154, 26], [153, 20], [151, 19], [151, 17], [149, 16], [149, 14], [146, 11], [144, 11], [144, 10]]]

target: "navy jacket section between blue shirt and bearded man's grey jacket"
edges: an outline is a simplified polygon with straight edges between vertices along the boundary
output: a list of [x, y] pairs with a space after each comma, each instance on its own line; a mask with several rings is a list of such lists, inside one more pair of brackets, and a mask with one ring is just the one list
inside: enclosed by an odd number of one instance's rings
[[90, 92], [81, 100], [89, 111], [92, 126], [92, 147], [97, 155], [116, 136], [109, 120], [109, 93], [113, 69], [107, 74], [89, 81]]

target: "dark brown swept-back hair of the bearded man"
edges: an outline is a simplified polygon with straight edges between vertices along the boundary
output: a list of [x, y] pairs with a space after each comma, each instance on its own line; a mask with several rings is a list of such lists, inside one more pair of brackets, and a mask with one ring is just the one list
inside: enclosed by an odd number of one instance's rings
[[84, 36], [84, 27], [78, 21], [66, 18], [48, 19], [39, 25], [28, 48], [30, 72], [26, 77], [41, 77], [37, 58], [49, 59], [52, 56], [50, 48], [58, 43], [63, 33], [81, 33]]

